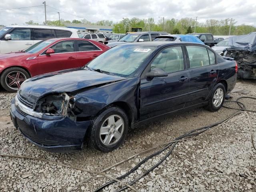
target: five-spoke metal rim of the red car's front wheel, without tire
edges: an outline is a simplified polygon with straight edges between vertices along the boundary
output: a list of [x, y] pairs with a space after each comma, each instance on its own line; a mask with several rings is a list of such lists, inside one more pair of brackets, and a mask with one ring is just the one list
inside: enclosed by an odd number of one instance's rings
[[26, 80], [26, 75], [20, 71], [12, 71], [5, 78], [6, 85], [14, 90], [20, 88], [20, 85]]

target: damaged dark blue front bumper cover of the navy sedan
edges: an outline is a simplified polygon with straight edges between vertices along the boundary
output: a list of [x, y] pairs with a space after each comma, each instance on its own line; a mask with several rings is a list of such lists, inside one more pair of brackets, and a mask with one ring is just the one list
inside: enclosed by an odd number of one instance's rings
[[75, 122], [68, 117], [44, 120], [18, 111], [12, 100], [10, 115], [14, 126], [32, 144], [51, 152], [82, 149], [91, 121]]

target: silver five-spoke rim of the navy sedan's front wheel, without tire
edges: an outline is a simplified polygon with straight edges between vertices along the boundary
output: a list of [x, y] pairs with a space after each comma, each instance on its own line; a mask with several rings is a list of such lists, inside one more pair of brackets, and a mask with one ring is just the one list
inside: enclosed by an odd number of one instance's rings
[[111, 115], [104, 120], [100, 128], [100, 141], [106, 146], [111, 146], [122, 138], [124, 120], [119, 115]]

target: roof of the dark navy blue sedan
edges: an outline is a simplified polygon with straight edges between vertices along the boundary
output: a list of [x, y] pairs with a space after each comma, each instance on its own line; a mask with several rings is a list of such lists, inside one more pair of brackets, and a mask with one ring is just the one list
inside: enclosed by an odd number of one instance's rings
[[117, 46], [149, 46], [149, 47], [160, 47], [164, 45], [176, 45], [176, 44], [195, 44], [195, 45], [202, 45], [200, 43], [194, 42], [179, 42], [179, 41], [148, 41], [148, 42], [135, 42], [135, 43], [124, 43]]

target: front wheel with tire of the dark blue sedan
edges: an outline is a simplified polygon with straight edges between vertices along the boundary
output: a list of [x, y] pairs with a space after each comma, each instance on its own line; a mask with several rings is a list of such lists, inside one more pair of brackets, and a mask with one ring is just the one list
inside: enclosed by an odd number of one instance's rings
[[128, 126], [126, 113], [111, 106], [93, 120], [88, 132], [88, 144], [102, 152], [110, 152], [124, 142]]

